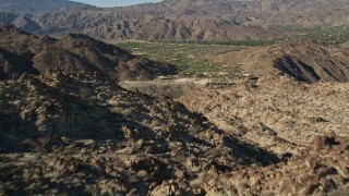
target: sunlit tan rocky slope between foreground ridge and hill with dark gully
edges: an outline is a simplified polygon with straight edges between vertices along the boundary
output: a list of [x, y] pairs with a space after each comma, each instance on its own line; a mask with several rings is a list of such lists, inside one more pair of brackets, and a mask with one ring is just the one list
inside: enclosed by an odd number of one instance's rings
[[347, 83], [303, 84], [284, 76], [203, 87], [179, 101], [242, 140], [284, 154], [328, 131], [348, 136], [348, 93]]

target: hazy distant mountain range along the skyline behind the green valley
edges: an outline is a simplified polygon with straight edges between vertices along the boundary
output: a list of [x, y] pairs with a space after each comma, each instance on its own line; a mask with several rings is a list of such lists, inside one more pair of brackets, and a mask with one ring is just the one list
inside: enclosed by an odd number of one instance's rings
[[287, 32], [279, 26], [349, 25], [347, 0], [165, 0], [111, 9], [43, 1], [1, 0], [0, 23], [36, 35], [207, 41], [280, 38]]

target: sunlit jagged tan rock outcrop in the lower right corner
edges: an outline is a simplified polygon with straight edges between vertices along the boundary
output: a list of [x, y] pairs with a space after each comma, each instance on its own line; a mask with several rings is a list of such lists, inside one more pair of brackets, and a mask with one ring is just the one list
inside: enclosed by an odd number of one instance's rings
[[[348, 193], [348, 137], [316, 136], [311, 146], [275, 166], [250, 167], [231, 175], [239, 195], [346, 195]], [[336, 191], [332, 191], [337, 187]]]

